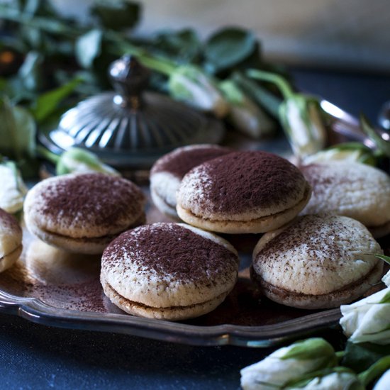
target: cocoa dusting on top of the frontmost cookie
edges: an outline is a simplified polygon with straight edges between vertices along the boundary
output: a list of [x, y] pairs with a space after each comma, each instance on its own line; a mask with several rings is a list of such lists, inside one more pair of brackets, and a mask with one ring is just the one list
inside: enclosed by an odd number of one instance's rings
[[121, 234], [104, 251], [102, 265], [123, 262], [128, 254], [131, 262], [162, 276], [210, 284], [216, 274], [234, 273], [238, 264], [230, 250], [175, 223], [144, 225]]

